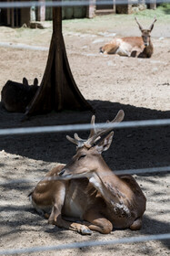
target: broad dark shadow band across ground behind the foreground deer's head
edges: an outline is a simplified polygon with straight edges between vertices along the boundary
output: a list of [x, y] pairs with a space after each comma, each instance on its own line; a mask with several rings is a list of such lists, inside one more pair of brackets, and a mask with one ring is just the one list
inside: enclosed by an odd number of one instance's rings
[[[162, 112], [110, 101], [89, 101], [95, 109], [95, 122], [105, 123], [123, 109], [125, 121], [154, 120], [170, 118], [170, 112]], [[0, 109], [0, 128], [60, 125], [68, 123], [90, 123], [91, 112], [52, 112], [31, 117], [21, 122], [23, 114], [10, 113]], [[22, 155], [46, 162], [66, 163], [75, 154], [75, 145], [65, 135], [71, 133], [36, 133], [1, 136], [0, 151]], [[78, 132], [86, 138], [89, 131]], [[168, 126], [115, 129], [111, 148], [104, 154], [106, 163], [112, 169], [146, 168], [169, 165], [170, 129]], [[5, 163], [1, 163], [5, 165]]]

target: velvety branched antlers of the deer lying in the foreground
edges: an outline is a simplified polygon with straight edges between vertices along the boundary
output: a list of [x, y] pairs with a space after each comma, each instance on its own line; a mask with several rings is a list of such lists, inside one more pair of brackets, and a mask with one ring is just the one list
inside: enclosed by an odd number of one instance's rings
[[[124, 111], [120, 110], [115, 116], [115, 119], [113, 121], [111, 122], [107, 121], [106, 123], [116, 123], [116, 124], [120, 123], [124, 119], [124, 116], [125, 116]], [[113, 127], [108, 128], [108, 125], [105, 125], [105, 127], [102, 129], [95, 129], [95, 115], [92, 116], [91, 124], [93, 127], [90, 131], [90, 134], [87, 140], [81, 139], [77, 133], [75, 133], [74, 135], [75, 138], [71, 138], [68, 135], [66, 136], [66, 138], [71, 143], [76, 144], [78, 148], [84, 145], [90, 148], [92, 147], [93, 144], [95, 144], [96, 141], [98, 141], [101, 138], [102, 135], [113, 130]]]

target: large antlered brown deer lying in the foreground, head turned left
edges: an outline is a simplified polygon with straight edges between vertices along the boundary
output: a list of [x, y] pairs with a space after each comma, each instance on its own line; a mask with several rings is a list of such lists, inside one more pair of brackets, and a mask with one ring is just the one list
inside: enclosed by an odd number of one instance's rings
[[[120, 111], [112, 123], [123, 118], [124, 112]], [[107, 234], [113, 228], [140, 229], [145, 196], [133, 176], [116, 176], [105, 164], [101, 153], [109, 148], [114, 133], [95, 144], [112, 129], [95, 130], [95, 116], [92, 124], [94, 129], [87, 140], [76, 133], [75, 138], [67, 136], [77, 145], [76, 154], [67, 165], [52, 169], [36, 185], [30, 200], [39, 213], [49, 217], [49, 223], [82, 234], [91, 234], [92, 230]]]

